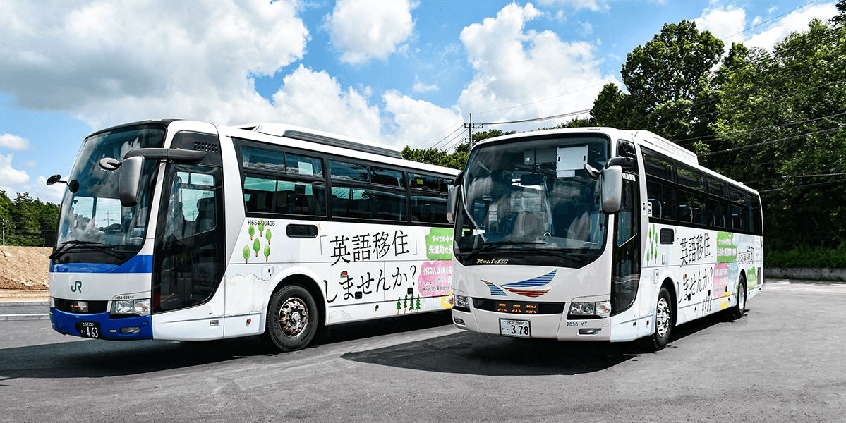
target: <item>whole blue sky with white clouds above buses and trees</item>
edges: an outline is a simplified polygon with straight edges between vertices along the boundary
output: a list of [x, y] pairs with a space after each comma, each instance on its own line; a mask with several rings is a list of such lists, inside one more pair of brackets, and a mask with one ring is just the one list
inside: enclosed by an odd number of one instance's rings
[[5, 0], [0, 190], [58, 202], [64, 185], [44, 181], [69, 173], [85, 135], [149, 118], [450, 147], [469, 113], [589, 109], [666, 23], [770, 49], [836, 12], [834, 0]]

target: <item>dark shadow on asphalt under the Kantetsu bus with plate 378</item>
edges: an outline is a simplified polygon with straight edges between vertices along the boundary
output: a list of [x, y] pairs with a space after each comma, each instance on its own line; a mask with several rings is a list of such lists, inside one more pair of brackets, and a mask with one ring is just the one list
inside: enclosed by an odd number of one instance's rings
[[[673, 348], [673, 343], [683, 342], [684, 338], [725, 321], [725, 316], [718, 313], [675, 327], [667, 348]], [[602, 343], [459, 332], [382, 349], [347, 353], [342, 358], [420, 371], [479, 376], [541, 376], [602, 371], [628, 360], [636, 361], [643, 354], [655, 354], [643, 340]]]

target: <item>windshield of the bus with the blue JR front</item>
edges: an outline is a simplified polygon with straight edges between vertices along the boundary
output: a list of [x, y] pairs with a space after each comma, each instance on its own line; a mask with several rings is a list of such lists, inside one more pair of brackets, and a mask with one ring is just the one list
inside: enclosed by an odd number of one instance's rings
[[164, 135], [161, 126], [144, 125], [91, 135], [83, 142], [64, 193], [53, 260], [119, 265], [141, 249], [157, 162], [144, 162], [138, 204], [123, 207], [118, 197], [120, 169], [105, 170], [99, 161], [123, 160], [128, 151], [161, 147]]

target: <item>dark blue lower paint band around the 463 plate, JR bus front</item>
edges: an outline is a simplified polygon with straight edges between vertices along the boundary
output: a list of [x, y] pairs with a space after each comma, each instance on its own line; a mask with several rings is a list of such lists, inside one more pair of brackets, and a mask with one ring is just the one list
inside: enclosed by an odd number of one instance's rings
[[[153, 338], [151, 316], [137, 316], [127, 317], [125, 319], [111, 319], [109, 318], [109, 313], [80, 315], [52, 308], [50, 309], [50, 321], [52, 322], [52, 327], [56, 332], [64, 333], [66, 335], [73, 335], [75, 337], [81, 336], [80, 329], [76, 326], [78, 322], [96, 321], [100, 324], [100, 333], [102, 339], [118, 340]], [[121, 327], [140, 327], [141, 330], [139, 333], [136, 334], [122, 335], [120, 333]]]

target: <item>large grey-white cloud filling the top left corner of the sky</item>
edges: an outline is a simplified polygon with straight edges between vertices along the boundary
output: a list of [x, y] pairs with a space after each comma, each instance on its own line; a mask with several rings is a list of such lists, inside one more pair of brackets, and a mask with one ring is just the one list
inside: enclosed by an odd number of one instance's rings
[[164, 117], [230, 123], [221, 108], [262, 104], [250, 74], [274, 74], [305, 54], [298, 8], [298, 0], [8, 0], [0, 91], [93, 128]]

